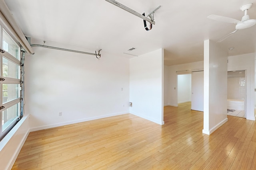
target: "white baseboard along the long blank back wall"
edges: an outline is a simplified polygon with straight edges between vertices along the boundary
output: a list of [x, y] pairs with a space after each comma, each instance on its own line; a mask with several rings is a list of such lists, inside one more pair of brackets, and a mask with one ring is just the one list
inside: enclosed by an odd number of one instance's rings
[[86, 118], [86, 119], [79, 119], [79, 120], [74, 120], [74, 121], [66, 121], [66, 122], [56, 123], [56, 124], [52, 124], [52, 125], [45, 125], [45, 126], [30, 128], [30, 131], [31, 132], [33, 132], [33, 131], [40, 131], [40, 130], [43, 130], [43, 129], [49, 129], [49, 128], [59, 127], [59, 126], [64, 126], [64, 125], [70, 125], [70, 124], [74, 124], [74, 123], [81, 123], [81, 122], [84, 122], [84, 121], [91, 121], [91, 120], [96, 120], [96, 119], [102, 119], [102, 118], [106, 118], [106, 117], [123, 115], [123, 114], [127, 114], [127, 113], [129, 113], [129, 112], [120, 112], [120, 113], [113, 113], [113, 114], [109, 114], [109, 115], [89, 117], [89, 118]]

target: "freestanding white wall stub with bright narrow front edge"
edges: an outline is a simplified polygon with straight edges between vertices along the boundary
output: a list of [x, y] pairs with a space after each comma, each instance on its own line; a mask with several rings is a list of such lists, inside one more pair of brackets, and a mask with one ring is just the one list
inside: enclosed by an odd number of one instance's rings
[[204, 129], [210, 135], [227, 118], [227, 52], [213, 41], [204, 41]]

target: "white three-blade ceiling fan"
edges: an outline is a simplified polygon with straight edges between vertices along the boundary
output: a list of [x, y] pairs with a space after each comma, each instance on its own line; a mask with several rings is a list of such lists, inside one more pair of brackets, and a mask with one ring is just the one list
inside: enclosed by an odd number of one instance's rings
[[256, 24], [256, 20], [254, 20], [254, 19], [250, 20], [250, 17], [247, 14], [248, 10], [251, 7], [252, 7], [252, 3], [245, 4], [245, 5], [241, 6], [240, 10], [244, 11], [244, 16], [242, 17], [241, 21], [233, 19], [233, 18], [214, 15], [214, 14], [207, 17], [209, 19], [216, 20], [216, 21], [222, 21], [222, 22], [226, 22], [226, 23], [236, 23], [236, 30], [233, 31], [232, 33], [229, 33], [228, 35], [222, 37], [221, 39], [219, 39], [217, 41], [217, 43], [219, 43], [219, 42], [223, 41], [224, 39], [228, 38], [230, 35], [232, 35], [236, 31], [238, 31], [239, 29], [246, 29], [246, 28], [252, 27], [253, 25]]

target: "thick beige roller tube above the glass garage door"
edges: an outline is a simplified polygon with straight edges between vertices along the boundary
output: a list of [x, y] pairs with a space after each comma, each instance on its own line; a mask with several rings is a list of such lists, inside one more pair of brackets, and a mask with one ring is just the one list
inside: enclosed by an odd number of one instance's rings
[[22, 47], [30, 54], [34, 54], [33, 49], [30, 47], [25, 35], [21, 31], [20, 27], [14, 20], [12, 13], [10, 12], [8, 6], [4, 2], [4, 0], [0, 0], [0, 18], [6, 24], [5, 26], [10, 29], [10, 31], [14, 34], [16, 39], [22, 45]]

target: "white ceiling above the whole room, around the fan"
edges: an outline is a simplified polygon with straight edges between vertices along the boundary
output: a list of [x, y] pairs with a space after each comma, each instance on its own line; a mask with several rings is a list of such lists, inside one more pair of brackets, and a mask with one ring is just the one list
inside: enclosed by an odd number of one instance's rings
[[[235, 30], [235, 24], [206, 18], [210, 14], [241, 20], [240, 6], [256, 19], [256, 0], [116, 0], [136, 12], [155, 13], [152, 30], [143, 20], [105, 0], [5, 0], [24, 35], [133, 57], [164, 48], [164, 64], [203, 60], [204, 40], [218, 41]], [[148, 23], [149, 25], [149, 23]], [[239, 30], [219, 43], [229, 55], [255, 51], [256, 25]], [[135, 47], [134, 51], [127, 51]], [[234, 47], [233, 51], [228, 48]]]

